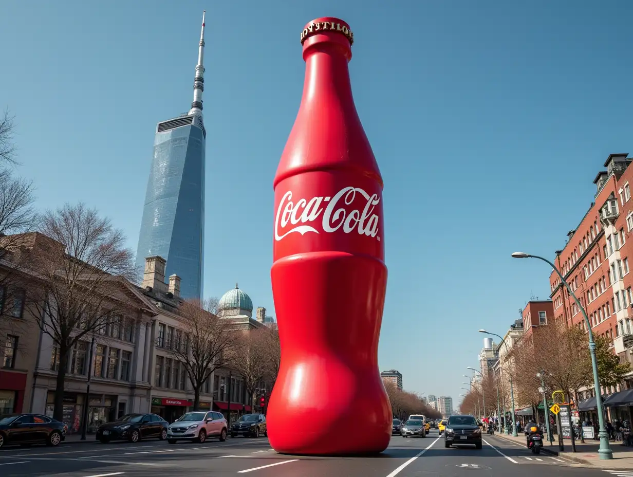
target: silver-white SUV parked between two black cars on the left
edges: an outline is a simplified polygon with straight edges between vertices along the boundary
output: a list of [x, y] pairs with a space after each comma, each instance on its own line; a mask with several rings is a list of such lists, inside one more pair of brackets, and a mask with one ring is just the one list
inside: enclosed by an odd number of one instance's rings
[[182, 439], [203, 443], [210, 437], [218, 437], [220, 442], [227, 440], [227, 420], [219, 412], [187, 412], [167, 428], [167, 442], [170, 444]]

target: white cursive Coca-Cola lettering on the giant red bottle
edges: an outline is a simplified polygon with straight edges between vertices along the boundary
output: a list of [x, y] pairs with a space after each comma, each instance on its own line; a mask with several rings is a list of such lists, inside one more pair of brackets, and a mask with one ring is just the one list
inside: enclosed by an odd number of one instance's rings
[[[363, 208], [348, 210], [345, 206], [352, 205], [356, 198], [362, 198]], [[323, 203], [327, 206], [323, 207]], [[358, 200], [358, 204], [361, 200]], [[342, 229], [349, 234], [353, 231], [359, 235], [375, 237], [380, 241], [378, 234], [379, 217], [373, 213], [374, 208], [380, 203], [378, 194], [368, 194], [361, 188], [346, 187], [338, 191], [334, 197], [317, 196], [310, 200], [301, 198], [292, 201], [292, 191], [287, 191], [279, 202], [277, 215], [275, 216], [275, 240], [279, 241], [292, 232], [304, 235], [308, 232], [319, 233], [315, 227], [308, 224], [321, 220], [323, 232], [336, 232]], [[290, 229], [286, 229], [288, 224]]]

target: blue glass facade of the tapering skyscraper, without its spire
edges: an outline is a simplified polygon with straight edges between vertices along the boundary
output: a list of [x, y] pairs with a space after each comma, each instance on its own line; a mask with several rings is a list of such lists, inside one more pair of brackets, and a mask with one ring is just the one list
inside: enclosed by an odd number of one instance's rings
[[203, 291], [204, 158], [202, 118], [191, 116], [160, 123], [154, 138], [154, 157], [136, 253], [142, 275], [145, 258], [160, 255], [167, 261], [165, 277], [182, 280], [180, 295], [200, 298]]

